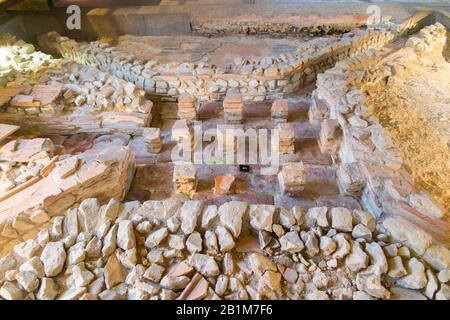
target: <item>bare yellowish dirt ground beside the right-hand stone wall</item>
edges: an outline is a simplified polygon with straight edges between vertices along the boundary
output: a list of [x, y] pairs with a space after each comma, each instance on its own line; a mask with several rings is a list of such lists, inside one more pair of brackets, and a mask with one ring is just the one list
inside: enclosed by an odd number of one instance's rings
[[415, 183], [450, 209], [450, 64], [423, 60], [391, 78], [371, 104]]

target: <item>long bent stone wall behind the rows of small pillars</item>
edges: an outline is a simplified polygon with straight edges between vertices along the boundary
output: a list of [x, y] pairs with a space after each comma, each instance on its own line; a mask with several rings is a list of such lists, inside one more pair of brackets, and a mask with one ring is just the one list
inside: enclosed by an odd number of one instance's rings
[[56, 33], [43, 35], [39, 44], [49, 53], [96, 66], [131, 81], [150, 96], [160, 99], [189, 93], [200, 101], [214, 101], [223, 100], [229, 91], [239, 91], [245, 100], [262, 101], [284, 97], [312, 82], [317, 74], [337, 61], [369, 48], [381, 48], [413, 27], [414, 22], [408, 21], [390, 24], [379, 31], [347, 33], [331, 43], [311, 40], [297, 53], [241, 61], [232, 73], [203, 62], [158, 64], [153, 60], [141, 61], [99, 41], [77, 43]]

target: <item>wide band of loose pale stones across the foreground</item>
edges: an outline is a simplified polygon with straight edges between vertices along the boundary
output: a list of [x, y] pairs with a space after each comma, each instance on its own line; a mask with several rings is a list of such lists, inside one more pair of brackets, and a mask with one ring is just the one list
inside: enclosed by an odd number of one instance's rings
[[397, 220], [380, 226], [343, 207], [91, 198], [4, 254], [0, 297], [448, 299], [450, 253], [423, 232], [398, 238], [414, 227]]

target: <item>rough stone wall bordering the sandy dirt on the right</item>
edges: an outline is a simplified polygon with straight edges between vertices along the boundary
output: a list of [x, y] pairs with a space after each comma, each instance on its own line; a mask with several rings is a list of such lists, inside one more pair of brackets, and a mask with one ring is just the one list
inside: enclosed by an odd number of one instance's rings
[[[363, 207], [377, 218], [402, 216], [448, 245], [450, 225], [431, 214], [430, 210], [439, 208], [426, 193], [414, 191], [399, 149], [366, 104], [367, 87], [382, 86], [389, 77], [413, 66], [421, 55], [442, 54], [445, 43], [446, 29], [436, 24], [422, 29], [404, 48], [369, 50], [337, 63], [318, 76], [310, 120], [325, 120], [322, 132], [326, 137], [321, 141], [337, 146], [329, 152], [339, 167], [343, 193], [360, 196]], [[333, 133], [332, 124], [338, 125], [341, 134], [328, 133]]]

